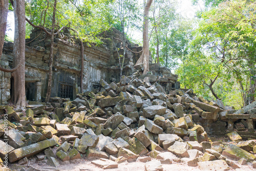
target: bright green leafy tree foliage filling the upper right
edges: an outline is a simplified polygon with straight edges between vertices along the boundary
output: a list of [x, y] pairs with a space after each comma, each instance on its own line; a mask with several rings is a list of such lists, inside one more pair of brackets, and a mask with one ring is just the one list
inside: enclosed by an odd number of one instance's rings
[[255, 7], [250, 1], [227, 1], [202, 13], [189, 54], [177, 70], [186, 88], [212, 98], [207, 95], [206, 84], [218, 75], [213, 89], [226, 104], [236, 99], [231, 105], [239, 108], [252, 102], [256, 74]]

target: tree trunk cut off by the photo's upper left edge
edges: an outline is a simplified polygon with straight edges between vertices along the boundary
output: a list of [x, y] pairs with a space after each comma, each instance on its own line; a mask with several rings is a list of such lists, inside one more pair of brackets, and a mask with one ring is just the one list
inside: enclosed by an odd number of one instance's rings
[[0, 0], [0, 58], [4, 47], [5, 31], [7, 26], [8, 0]]

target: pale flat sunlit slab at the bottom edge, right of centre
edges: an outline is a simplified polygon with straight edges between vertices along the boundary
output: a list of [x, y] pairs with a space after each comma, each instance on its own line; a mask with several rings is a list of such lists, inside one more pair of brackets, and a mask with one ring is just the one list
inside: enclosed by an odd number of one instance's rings
[[201, 170], [229, 170], [225, 160], [202, 161], [198, 162]]

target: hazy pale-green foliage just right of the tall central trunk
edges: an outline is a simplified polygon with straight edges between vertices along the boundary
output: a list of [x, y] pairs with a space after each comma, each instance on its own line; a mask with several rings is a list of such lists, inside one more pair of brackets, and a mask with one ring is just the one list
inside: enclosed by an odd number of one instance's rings
[[178, 12], [178, 1], [154, 1], [151, 20], [150, 50], [153, 60], [157, 60], [159, 47], [159, 64], [170, 69], [178, 66], [178, 59], [188, 53], [191, 22]]

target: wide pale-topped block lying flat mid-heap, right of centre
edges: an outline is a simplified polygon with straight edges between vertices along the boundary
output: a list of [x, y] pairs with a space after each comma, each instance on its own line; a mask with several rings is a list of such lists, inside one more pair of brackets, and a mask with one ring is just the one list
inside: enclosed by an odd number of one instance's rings
[[154, 118], [155, 115], [164, 115], [166, 108], [161, 105], [152, 105], [143, 109], [143, 116], [146, 118]]

